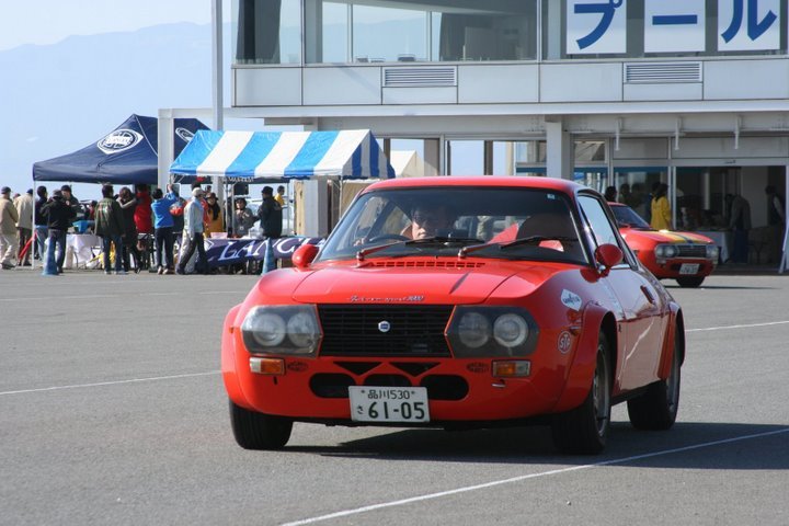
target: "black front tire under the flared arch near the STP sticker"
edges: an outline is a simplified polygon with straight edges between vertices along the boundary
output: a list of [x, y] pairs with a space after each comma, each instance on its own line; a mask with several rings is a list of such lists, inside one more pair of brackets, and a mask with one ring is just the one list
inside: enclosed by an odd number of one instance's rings
[[553, 418], [553, 444], [562, 453], [596, 455], [608, 438], [611, 408], [611, 370], [608, 340], [601, 333], [597, 365], [590, 392], [581, 405]]

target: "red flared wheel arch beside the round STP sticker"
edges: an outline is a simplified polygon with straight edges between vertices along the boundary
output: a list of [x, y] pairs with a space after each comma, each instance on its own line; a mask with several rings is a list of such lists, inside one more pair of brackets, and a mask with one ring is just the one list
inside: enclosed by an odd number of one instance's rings
[[607, 313], [603, 307], [596, 304], [588, 304], [584, 309], [583, 333], [575, 347], [562, 395], [553, 407], [554, 412], [561, 413], [575, 409], [586, 399], [597, 365], [597, 341], [603, 328], [603, 318]]

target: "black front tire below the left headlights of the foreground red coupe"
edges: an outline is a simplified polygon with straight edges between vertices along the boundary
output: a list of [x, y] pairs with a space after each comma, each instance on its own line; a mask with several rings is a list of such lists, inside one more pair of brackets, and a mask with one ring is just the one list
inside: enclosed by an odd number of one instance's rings
[[256, 413], [230, 401], [230, 425], [244, 449], [282, 449], [290, 438], [293, 420]]

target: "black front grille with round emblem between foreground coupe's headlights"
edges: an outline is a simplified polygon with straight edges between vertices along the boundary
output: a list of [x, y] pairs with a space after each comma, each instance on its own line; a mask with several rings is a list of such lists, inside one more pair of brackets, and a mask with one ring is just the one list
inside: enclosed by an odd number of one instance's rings
[[[444, 305], [320, 305], [322, 356], [450, 356]], [[381, 332], [380, 322], [390, 329]]]

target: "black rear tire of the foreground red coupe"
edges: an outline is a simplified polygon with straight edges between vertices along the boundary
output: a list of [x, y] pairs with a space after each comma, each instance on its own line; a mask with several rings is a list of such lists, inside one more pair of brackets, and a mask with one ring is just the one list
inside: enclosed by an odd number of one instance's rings
[[679, 410], [681, 379], [679, 346], [675, 338], [668, 378], [651, 384], [647, 392], [628, 400], [628, 416], [632, 426], [637, 430], [663, 431], [674, 425]]

